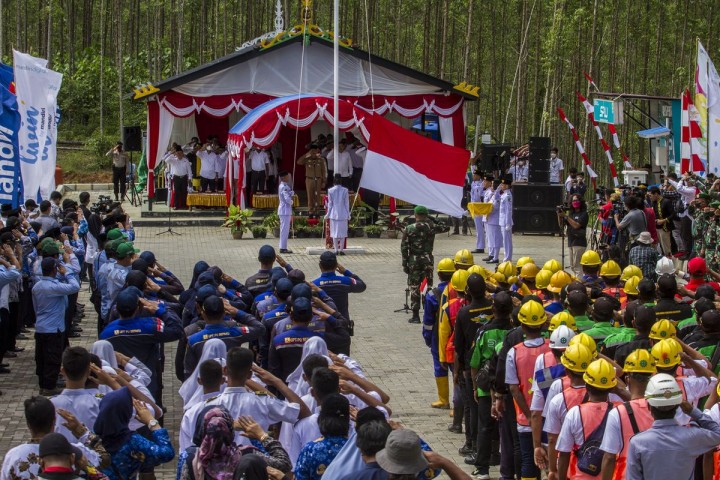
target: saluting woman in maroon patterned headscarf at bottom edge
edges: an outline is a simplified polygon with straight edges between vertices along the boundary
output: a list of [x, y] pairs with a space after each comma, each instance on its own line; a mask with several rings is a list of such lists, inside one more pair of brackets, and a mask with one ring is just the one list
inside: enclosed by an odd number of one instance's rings
[[[181, 455], [178, 480], [230, 480], [241, 459], [246, 456], [261, 457], [266, 465], [282, 472], [292, 468], [280, 442], [268, 435], [251, 417], [240, 417], [233, 422], [225, 407], [211, 406], [204, 410], [199, 424], [196, 435], [199, 438], [194, 439], [199, 446], [189, 447]], [[236, 445], [235, 430], [242, 430], [244, 436], [260, 444], [267, 454], [255, 447]]]

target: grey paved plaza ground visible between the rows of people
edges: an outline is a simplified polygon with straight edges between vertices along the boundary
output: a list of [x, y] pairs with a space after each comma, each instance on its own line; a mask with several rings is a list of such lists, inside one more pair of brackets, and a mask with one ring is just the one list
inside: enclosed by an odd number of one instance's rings
[[[244, 281], [257, 271], [258, 248], [264, 243], [277, 247], [275, 239], [232, 240], [227, 229], [216, 227], [177, 228], [174, 230], [182, 235], [156, 235], [163, 230], [138, 227], [135, 243], [142, 250], [155, 252], [158, 260], [173, 271], [185, 286], [198, 260], [218, 265], [226, 273]], [[318, 257], [305, 255], [305, 247], [317, 246], [319, 242], [291, 239], [290, 248], [295, 254], [285, 256], [309, 279], [319, 273]], [[351, 295], [350, 311], [356, 325], [352, 356], [363, 365], [367, 375], [390, 395], [390, 407], [396, 420], [416, 430], [439, 453], [462, 464], [457, 450], [463, 444], [464, 435], [448, 432], [447, 425], [451, 422], [448, 410], [434, 410], [429, 406], [436, 399], [435, 384], [429, 349], [421, 336], [422, 326], [408, 324], [409, 314], [393, 313], [405, 303], [406, 277], [401, 266], [400, 240], [362, 238], [351, 239], [350, 242], [364, 246], [366, 253], [340, 257], [340, 261], [368, 285], [365, 293]], [[514, 242], [516, 259], [529, 255], [542, 265], [560, 254], [559, 237], [515, 235]], [[474, 245], [472, 236], [438, 235], [435, 261], [452, 257], [461, 248], [473, 249]], [[80, 301], [86, 304], [88, 314], [82, 325], [85, 331], [82, 338], [74, 339], [72, 343], [90, 348], [95, 340], [95, 312], [89, 302], [87, 285], [83, 286]], [[26, 350], [17, 359], [11, 359], [12, 373], [0, 376], [0, 389], [3, 391], [0, 397], [0, 455], [28, 440], [22, 402], [38, 394], [34, 375], [34, 343], [31, 340], [21, 341], [19, 346]], [[168, 413], [165, 426], [171, 438], [177, 441], [182, 401], [177, 395], [180, 382], [172, 368], [175, 345], [172, 344], [166, 351], [164, 401]], [[468, 472], [472, 470], [469, 466], [465, 467]], [[174, 469], [175, 462], [163, 466], [158, 478], [173, 478]], [[494, 467], [491, 473], [496, 477], [497, 468]]]

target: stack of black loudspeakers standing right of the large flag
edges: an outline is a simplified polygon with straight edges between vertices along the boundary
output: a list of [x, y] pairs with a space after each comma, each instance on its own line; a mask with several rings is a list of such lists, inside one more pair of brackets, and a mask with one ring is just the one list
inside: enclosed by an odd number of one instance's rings
[[513, 184], [513, 231], [560, 233], [556, 207], [563, 203], [564, 186], [550, 185], [550, 138], [530, 137], [528, 183]]

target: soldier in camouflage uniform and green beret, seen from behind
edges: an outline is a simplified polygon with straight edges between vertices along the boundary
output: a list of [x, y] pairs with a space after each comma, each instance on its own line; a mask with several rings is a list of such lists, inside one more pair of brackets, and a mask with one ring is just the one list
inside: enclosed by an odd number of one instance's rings
[[428, 218], [428, 209], [422, 205], [415, 207], [415, 223], [408, 225], [403, 233], [400, 250], [403, 259], [403, 271], [408, 276], [410, 289], [410, 323], [420, 323], [420, 284], [427, 278], [428, 286], [433, 280], [433, 245], [435, 225]]

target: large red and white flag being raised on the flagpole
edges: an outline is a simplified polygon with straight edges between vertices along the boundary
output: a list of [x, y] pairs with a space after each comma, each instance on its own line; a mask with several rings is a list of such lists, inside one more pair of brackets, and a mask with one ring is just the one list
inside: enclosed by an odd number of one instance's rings
[[373, 115], [360, 186], [459, 217], [470, 152]]

